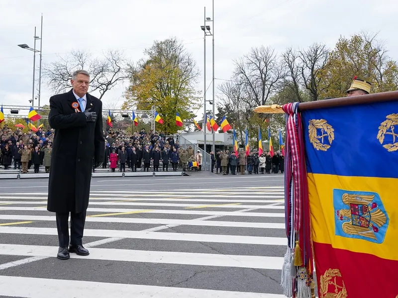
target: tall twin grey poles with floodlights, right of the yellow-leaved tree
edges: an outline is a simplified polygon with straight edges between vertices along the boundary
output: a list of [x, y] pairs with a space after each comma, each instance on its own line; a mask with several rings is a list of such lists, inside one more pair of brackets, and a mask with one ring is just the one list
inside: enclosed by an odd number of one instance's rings
[[[210, 31], [210, 26], [206, 25], [206, 22], [212, 22], [213, 23], [213, 30], [212, 32]], [[212, 88], [213, 88], [213, 94], [212, 94], [212, 100], [208, 100], [208, 102], [212, 105], [212, 110], [213, 110], [213, 115], [212, 117], [214, 118], [214, 113], [215, 113], [215, 102], [214, 102], [214, 0], [212, 1], [212, 18], [206, 17], [206, 7], [204, 7], [204, 25], [200, 26], [202, 31], [204, 32], [204, 51], [203, 51], [203, 56], [204, 56], [204, 67], [203, 67], [203, 99], [204, 99], [204, 104], [203, 104], [203, 149], [205, 152], [206, 151], [206, 36], [212, 36], [212, 69], [213, 69], [213, 75], [212, 75]], [[215, 120], [215, 118], [214, 118]], [[215, 135], [214, 135], [214, 130], [213, 130], [213, 143], [212, 143], [212, 151], [215, 151]]]

